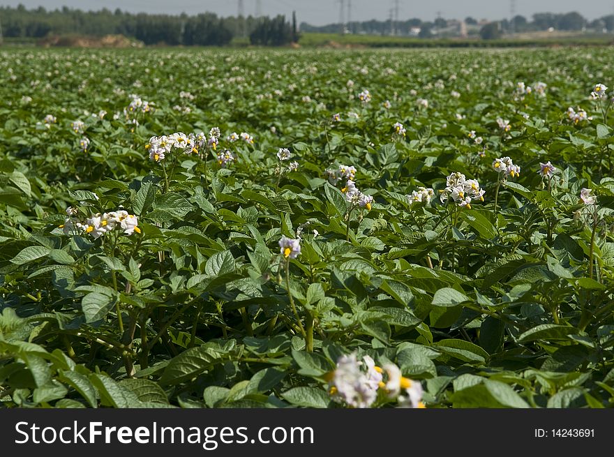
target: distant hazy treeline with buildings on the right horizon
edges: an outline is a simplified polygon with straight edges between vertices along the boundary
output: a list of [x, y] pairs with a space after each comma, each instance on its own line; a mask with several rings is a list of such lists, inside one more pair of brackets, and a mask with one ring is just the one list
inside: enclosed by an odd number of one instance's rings
[[[449, 29], [458, 29], [458, 20], [446, 20], [442, 17], [434, 21], [423, 21], [414, 17], [403, 21], [378, 21], [369, 20], [363, 22], [348, 22], [346, 24], [327, 24], [321, 27], [301, 23], [301, 31], [322, 32], [322, 33], [357, 33], [366, 35], [397, 35], [412, 36], [417, 35], [428, 38], [433, 34], [446, 33]], [[479, 22], [474, 17], [465, 17], [465, 24], [469, 26], [470, 33], [478, 33], [484, 22]], [[504, 19], [495, 21], [500, 24], [501, 31], [523, 32], [523, 31], [546, 31], [556, 29], [563, 31], [582, 31], [590, 30], [596, 32], [614, 32], [614, 15], [604, 15], [599, 19], [589, 21], [577, 12], [556, 14], [556, 13], [536, 13], [532, 20], [522, 15], [516, 15], [512, 20]]]

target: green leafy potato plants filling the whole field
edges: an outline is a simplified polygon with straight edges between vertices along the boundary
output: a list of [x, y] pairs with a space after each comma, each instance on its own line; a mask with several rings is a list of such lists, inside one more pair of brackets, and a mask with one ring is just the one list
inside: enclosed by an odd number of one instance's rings
[[[354, 353], [396, 364], [427, 407], [613, 405], [613, 121], [587, 100], [610, 51], [3, 57], [4, 406], [340, 407], [332, 373]], [[149, 160], [150, 137], [214, 126], [216, 149]], [[369, 206], [330, 179], [340, 165]], [[484, 202], [442, 203], [454, 172]], [[123, 210], [139, 231], [70, 230]]]

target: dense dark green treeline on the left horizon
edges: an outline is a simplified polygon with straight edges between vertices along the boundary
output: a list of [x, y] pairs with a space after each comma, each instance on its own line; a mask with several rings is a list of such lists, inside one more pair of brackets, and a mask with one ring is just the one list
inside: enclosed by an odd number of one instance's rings
[[28, 10], [0, 7], [0, 24], [6, 38], [45, 38], [47, 36], [123, 35], [146, 45], [208, 46], [227, 45], [232, 38], [249, 37], [255, 45], [286, 45], [299, 38], [296, 17], [292, 24], [280, 15], [269, 17], [218, 17], [199, 15], [151, 15], [111, 11], [83, 11], [63, 7]]

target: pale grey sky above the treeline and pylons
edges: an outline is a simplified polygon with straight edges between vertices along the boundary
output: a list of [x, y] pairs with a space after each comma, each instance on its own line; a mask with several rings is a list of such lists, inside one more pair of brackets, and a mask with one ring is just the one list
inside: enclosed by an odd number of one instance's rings
[[[395, 0], [345, 0], [351, 2], [352, 20], [387, 20]], [[221, 16], [237, 15], [239, 0], [0, 0], [0, 6], [17, 6], [22, 3], [27, 8], [44, 6], [55, 9], [61, 6], [99, 10], [101, 8], [121, 8], [133, 13], [170, 13], [188, 14], [211, 11]], [[298, 22], [324, 25], [339, 22], [340, 0], [243, 0], [246, 15], [255, 15], [257, 4], [263, 15], [285, 14], [290, 17], [292, 10], [297, 12]], [[534, 13], [569, 13], [578, 11], [592, 20], [614, 13], [614, 0], [514, 0], [516, 14], [527, 18]], [[399, 20], [419, 17], [421, 20], [434, 20], [440, 13], [446, 19], [463, 19], [472, 16], [478, 20], [497, 20], [510, 17], [511, 0], [398, 0]], [[345, 9], [347, 17], [347, 8]], [[1, 19], [1, 18], [0, 18]]]

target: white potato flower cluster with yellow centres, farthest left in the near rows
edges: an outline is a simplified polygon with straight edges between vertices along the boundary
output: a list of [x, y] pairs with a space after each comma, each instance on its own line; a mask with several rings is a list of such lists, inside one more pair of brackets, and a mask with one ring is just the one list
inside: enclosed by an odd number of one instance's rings
[[74, 234], [76, 231], [85, 232], [91, 235], [92, 238], [98, 239], [107, 232], [113, 230], [121, 230], [123, 234], [131, 235], [134, 232], [141, 233], [141, 229], [138, 227], [139, 220], [137, 216], [129, 214], [128, 211], [119, 209], [117, 211], [110, 211], [109, 213], [96, 213], [95, 215], [87, 218], [85, 222], [75, 220], [75, 209], [68, 207], [66, 209], [68, 218], [60, 225], [64, 234]]

